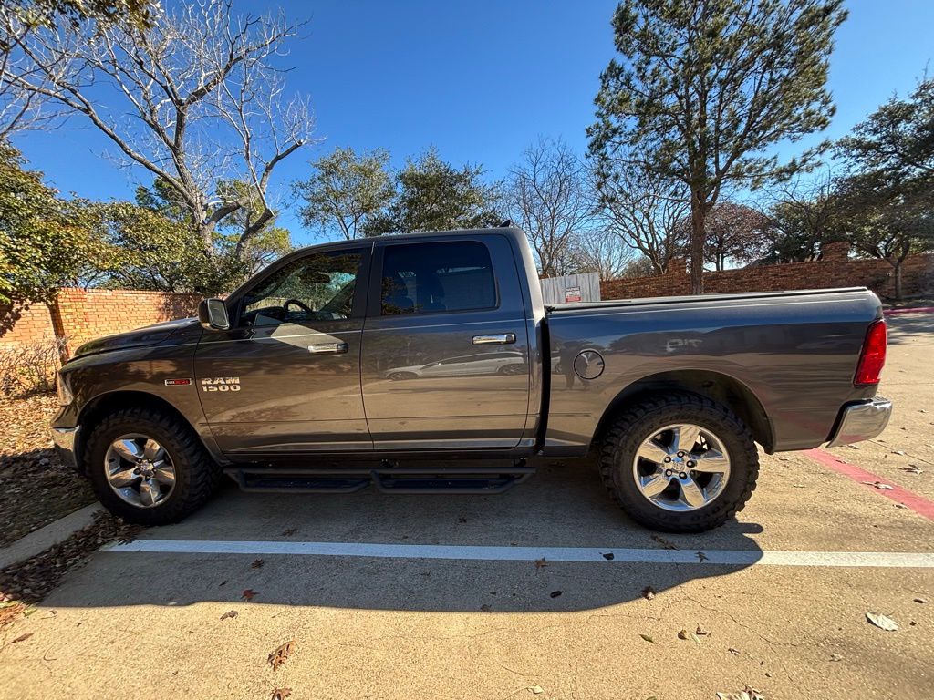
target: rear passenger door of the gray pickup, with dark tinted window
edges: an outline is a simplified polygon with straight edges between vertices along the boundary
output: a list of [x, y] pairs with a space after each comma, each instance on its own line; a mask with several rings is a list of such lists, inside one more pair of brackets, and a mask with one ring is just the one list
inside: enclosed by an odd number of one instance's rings
[[375, 448], [517, 446], [531, 362], [508, 240], [378, 242], [370, 287], [361, 379]]

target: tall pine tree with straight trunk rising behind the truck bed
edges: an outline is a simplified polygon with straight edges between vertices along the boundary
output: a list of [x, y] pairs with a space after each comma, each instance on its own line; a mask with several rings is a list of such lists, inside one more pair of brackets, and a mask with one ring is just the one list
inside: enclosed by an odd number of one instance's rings
[[[842, 0], [624, 0], [601, 75], [591, 153], [604, 172], [647, 167], [690, 193], [691, 287], [703, 290], [706, 220], [725, 189], [790, 175], [767, 154], [827, 126]], [[640, 157], [635, 157], [637, 153]], [[644, 156], [644, 160], [643, 160]]]

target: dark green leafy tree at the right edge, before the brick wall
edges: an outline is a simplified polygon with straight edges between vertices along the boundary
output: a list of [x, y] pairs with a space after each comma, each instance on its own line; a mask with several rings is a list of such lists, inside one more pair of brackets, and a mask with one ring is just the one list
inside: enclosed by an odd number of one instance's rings
[[888, 260], [901, 299], [905, 259], [934, 249], [934, 78], [892, 97], [836, 150], [847, 166], [837, 188], [848, 238]]

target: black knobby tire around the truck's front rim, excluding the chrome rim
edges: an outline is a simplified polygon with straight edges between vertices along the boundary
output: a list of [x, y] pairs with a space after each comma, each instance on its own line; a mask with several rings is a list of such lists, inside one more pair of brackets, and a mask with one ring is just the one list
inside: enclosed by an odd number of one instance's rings
[[[112, 441], [127, 433], [142, 433], [158, 441], [175, 466], [176, 483], [172, 492], [151, 508], [127, 503], [107, 483], [106, 451]], [[107, 511], [140, 525], [177, 523], [203, 506], [220, 481], [218, 465], [190, 426], [175, 416], [138, 407], [110, 413], [93, 427], [84, 450], [84, 469], [94, 493]]]

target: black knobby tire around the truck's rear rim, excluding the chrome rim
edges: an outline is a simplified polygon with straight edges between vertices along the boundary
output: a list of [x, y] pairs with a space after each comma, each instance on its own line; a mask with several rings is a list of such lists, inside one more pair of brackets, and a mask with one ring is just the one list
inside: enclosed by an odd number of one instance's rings
[[[692, 423], [713, 430], [729, 452], [729, 480], [723, 492], [695, 511], [666, 511], [640, 492], [632, 464], [640, 443], [653, 429]], [[735, 413], [696, 394], [672, 392], [620, 413], [603, 437], [600, 453], [603, 485], [627, 514], [653, 530], [703, 532], [743, 510], [756, 489], [758, 452], [749, 428]]]

